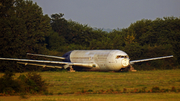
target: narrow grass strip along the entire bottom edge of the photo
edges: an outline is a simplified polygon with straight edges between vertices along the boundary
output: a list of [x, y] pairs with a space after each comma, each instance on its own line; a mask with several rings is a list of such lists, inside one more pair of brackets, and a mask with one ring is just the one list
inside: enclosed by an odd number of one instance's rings
[[179, 93], [136, 93], [136, 94], [68, 94], [38, 95], [22, 99], [18, 96], [0, 96], [0, 101], [179, 101]]

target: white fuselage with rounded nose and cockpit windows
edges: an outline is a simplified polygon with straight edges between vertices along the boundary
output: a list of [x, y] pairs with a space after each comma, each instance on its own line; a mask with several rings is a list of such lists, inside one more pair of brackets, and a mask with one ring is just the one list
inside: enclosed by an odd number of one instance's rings
[[89, 70], [119, 71], [129, 66], [129, 57], [121, 50], [74, 50], [69, 59], [73, 63], [95, 64]]

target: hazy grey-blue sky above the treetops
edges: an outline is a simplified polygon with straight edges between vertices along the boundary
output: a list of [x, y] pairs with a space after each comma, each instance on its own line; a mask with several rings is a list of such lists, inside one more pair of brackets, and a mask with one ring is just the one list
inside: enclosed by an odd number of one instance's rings
[[32, 0], [43, 14], [96, 28], [128, 28], [142, 19], [180, 17], [180, 0]]

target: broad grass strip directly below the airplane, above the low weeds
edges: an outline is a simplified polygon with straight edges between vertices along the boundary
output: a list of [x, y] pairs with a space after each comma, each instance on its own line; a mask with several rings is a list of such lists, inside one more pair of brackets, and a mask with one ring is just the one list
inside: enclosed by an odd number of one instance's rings
[[[100, 90], [180, 89], [180, 69], [137, 72], [39, 72], [53, 94]], [[0, 76], [3, 74], [1, 73]], [[16, 73], [18, 77], [20, 73]]]

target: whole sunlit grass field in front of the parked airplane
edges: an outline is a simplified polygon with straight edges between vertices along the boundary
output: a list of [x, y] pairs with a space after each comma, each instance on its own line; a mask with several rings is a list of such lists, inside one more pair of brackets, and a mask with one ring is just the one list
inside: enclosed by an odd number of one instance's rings
[[[138, 89], [146, 91], [152, 87], [180, 89], [180, 70], [154, 70], [137, 72], [39, 72], [49, 83], [53, 95], [31, 96], [29, 100], [180, 100], [180, 93], [130, 93]], [[1, 73], [0, 76], [3, 74]], [[16, 73], [18, 77], [20, 73]], [[84, 91], [126, 91], [120, 94], [77, 94]], [[61, 95], [58, 95], [61, 94]], [[64, 95], [65, 94], [65, 95]], [[8, 97], [9, 98], [9, 97]], [[26, 99], [28, 100], [28, 99]], [[0, 101], [1, 97], [0, 97]]]

